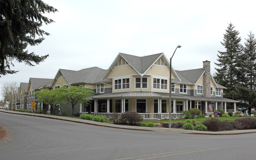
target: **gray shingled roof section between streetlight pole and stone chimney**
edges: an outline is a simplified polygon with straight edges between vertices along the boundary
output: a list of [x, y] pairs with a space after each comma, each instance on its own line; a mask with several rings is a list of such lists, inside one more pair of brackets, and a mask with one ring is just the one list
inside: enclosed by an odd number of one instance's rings
[[176, 72], [181, 78], [181, 82], [195, 84], [204, 73], [204, 69], [199, 68]]

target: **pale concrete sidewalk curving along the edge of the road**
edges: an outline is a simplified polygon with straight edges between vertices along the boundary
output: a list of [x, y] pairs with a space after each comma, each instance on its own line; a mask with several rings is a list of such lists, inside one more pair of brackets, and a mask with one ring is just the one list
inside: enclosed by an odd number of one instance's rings
[[211, 131], [185, 130], [185, 129], [177, 129], [177, 128], [140, 127], [140, 126], [131, 126], [131, 125], [116, 125], [116, 124], [107, 124], [107, 123], [95, 122], [95, 121], [91, 121], [91, 120], [82, 120], [82, 119], [78, 119], [78, 118], [64, 117], [64, 116], [44, 115], [44, 114], [35, 114], [35, 113], [24, 113], [24, 112], [16, 112], [16, 111], [7, 111], [7, 110], [4, 110], [4, 109], [0, 109], [0, 111], [4, 112], [4, 113], [11, 113], [11, 114], [17, 114], [17, 115], [52, 118], [52, 119], [57, 119], [57, 120], [65, 120], [65, 121], [84, 123], [84, 124], [90, 124], [90, 125], [99, 125], [99, 126], [104, 126], [104, 127], [112, 127], [112, 128], [119, 128], [119, 129], [131, 129], [131, 130], [140, 130], [140, 131], [155, 131], [155, 132], [163, 132], [163, 133], [199, 134], [199, 135], [238, 135], [238, 134], [256, 133], [256, 129], [211, 132]]

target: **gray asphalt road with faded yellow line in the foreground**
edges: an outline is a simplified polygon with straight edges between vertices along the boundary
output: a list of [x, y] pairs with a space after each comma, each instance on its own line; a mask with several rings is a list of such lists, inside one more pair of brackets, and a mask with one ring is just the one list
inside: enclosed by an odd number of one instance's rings
[[0, 160], [255, 160], [256, 134], [135, 131], [0, 112]]

